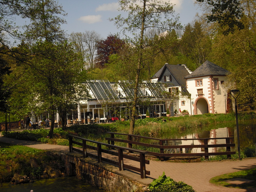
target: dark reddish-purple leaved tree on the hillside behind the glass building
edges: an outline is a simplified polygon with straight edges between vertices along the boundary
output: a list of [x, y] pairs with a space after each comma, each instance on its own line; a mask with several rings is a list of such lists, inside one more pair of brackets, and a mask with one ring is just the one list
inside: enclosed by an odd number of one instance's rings
[[97, 49], [97, 67], [103, 68], [105, 63], [108, 63], [109, 56], [112, 54], [116, 54], [125, 42], [119, 38], [117, 35], [108, 35], [108, 37], [104, 40], [100, 40], [96, 44]]

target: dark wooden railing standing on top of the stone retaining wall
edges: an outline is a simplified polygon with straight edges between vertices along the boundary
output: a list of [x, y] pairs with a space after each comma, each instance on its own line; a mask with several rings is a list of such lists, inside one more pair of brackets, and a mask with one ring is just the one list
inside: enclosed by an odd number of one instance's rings
[[[92, 140], [85, 139], [85, 138], [82, 138], [82, 137], [78, 137], [78, 136], [75, 136], [75, 135], [68, 135], [68, 137], [69, 137], [69, 152], [75, 151], [75, 152], [83, 154], [83, 157], [88, 157], [89, 156], [89, 157], [98, 159], [99, 163], [104, 161], [104, 162], [107, 162], [107, 163], [110, 163], [110, 164], [114, 164], [114, 165], [119, 167], [120, 171], [122, 171], [122, 170], [124, 170], [124, 168], [126, 168], [126, 169], [130, 169], [130, 170], [139, 172], [142, 179], [146, 178], [146, 175], [150, 175], [150, 171], [146, 170], [146, 165], [145, 165], [145, 164], [149, 164], [149, 161], [145, 159], [145, 154], [147, 153], [146, 151], [137, 150], [137, 149], [130, 149], [130, 148], [127, 148], [127, 147], [120, 147], [120, 146], [110, 145], [110, 144], [107, 144], [107, 143], [92, 141]], [[82, 140], [82, 143], [77, 142], [77, 141], [73, 141], [73, 138]], [[97, 147], [88, 145], [87, 142], [96, 143]], [[73, 144], [77, 144], [79, 146], [82, 146], [82, 150], [78, 149], [78, 148], [74, 148]], [[104, 145], [106, 147], [109, 147], [111, 149], [117, 149], [117, 152], [102, 149], [102, 145]], [[87, 150], [87, 149], [97, 151], [97, 155], [95, 155], [93, 153], [90, 153], [90, 151]], [[123, 153], [123, 151], [128, 151], [128, 150], [131, 151], [132, 153], [138, 153], [138, 154], [140, 154], [140, 156], [135, 157], [135, 156], [126, 155], [126, 154]], [[118, 161], [114, 161], [113, 158], [112, 159], [111, 158], [104, 158], [104, 157], [102, 157], [102, 153], [118, 156]], [[124, 161], [123, 161], [124, 158], [140, 162], [140, 168], [124, 164]]]

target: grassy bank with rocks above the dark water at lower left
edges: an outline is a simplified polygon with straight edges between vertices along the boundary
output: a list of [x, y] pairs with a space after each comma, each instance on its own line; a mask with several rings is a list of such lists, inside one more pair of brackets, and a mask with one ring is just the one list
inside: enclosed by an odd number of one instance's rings
[[[39, 167], [30, 166], [31, 158], [37, 159]], [[59, 157], [43, 150], [0, 142], [0, 183], [10, 182], [15, 173], [37, 178], [46, 165], [59, 169], [62, 162]]]

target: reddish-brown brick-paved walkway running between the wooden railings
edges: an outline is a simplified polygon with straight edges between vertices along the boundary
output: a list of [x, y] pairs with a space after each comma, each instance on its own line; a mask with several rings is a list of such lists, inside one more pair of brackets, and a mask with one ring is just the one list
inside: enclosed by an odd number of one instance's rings
[[[48, 151], [69, 152], [68, 146], [43, 144], [32, 141], [15, 140], [6, 138], [0, 135], [0, 142], [6, 142], [14, 145], [23, 145], [27, 147], [43, 149]], [[133, 165], [134, 162], [124, 162], [125, 164]], [[183, 181], [191, 185], [197, 192], [246, 192], [256, 191], [245, 189], [234, 189], [215, 186], [209, 183], [210, 178], [232, 173], [239, 170], [245, 170], [256, 167], [256, 158], [243, 160], [228, 160], [228, 161], [209, 161], [197, 163], [172, 163], [161, 161], [150, 161], [146, 165], [146, 169], [150, 171], [150, 177], [158, 178], [165, 172], [166, 176], [170, 176], [175, 181]]]

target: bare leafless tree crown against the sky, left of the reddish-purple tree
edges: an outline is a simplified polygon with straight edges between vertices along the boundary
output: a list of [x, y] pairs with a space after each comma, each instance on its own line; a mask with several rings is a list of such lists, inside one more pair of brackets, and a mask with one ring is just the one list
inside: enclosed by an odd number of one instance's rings
[[88, 63], [90, 68], [94, 67], [96, 55], [96, 43], [101, 40], [96, 31], [85, 31], [84, 33], [71, 33], [70, 40], [74, 43], [76, 51]]

